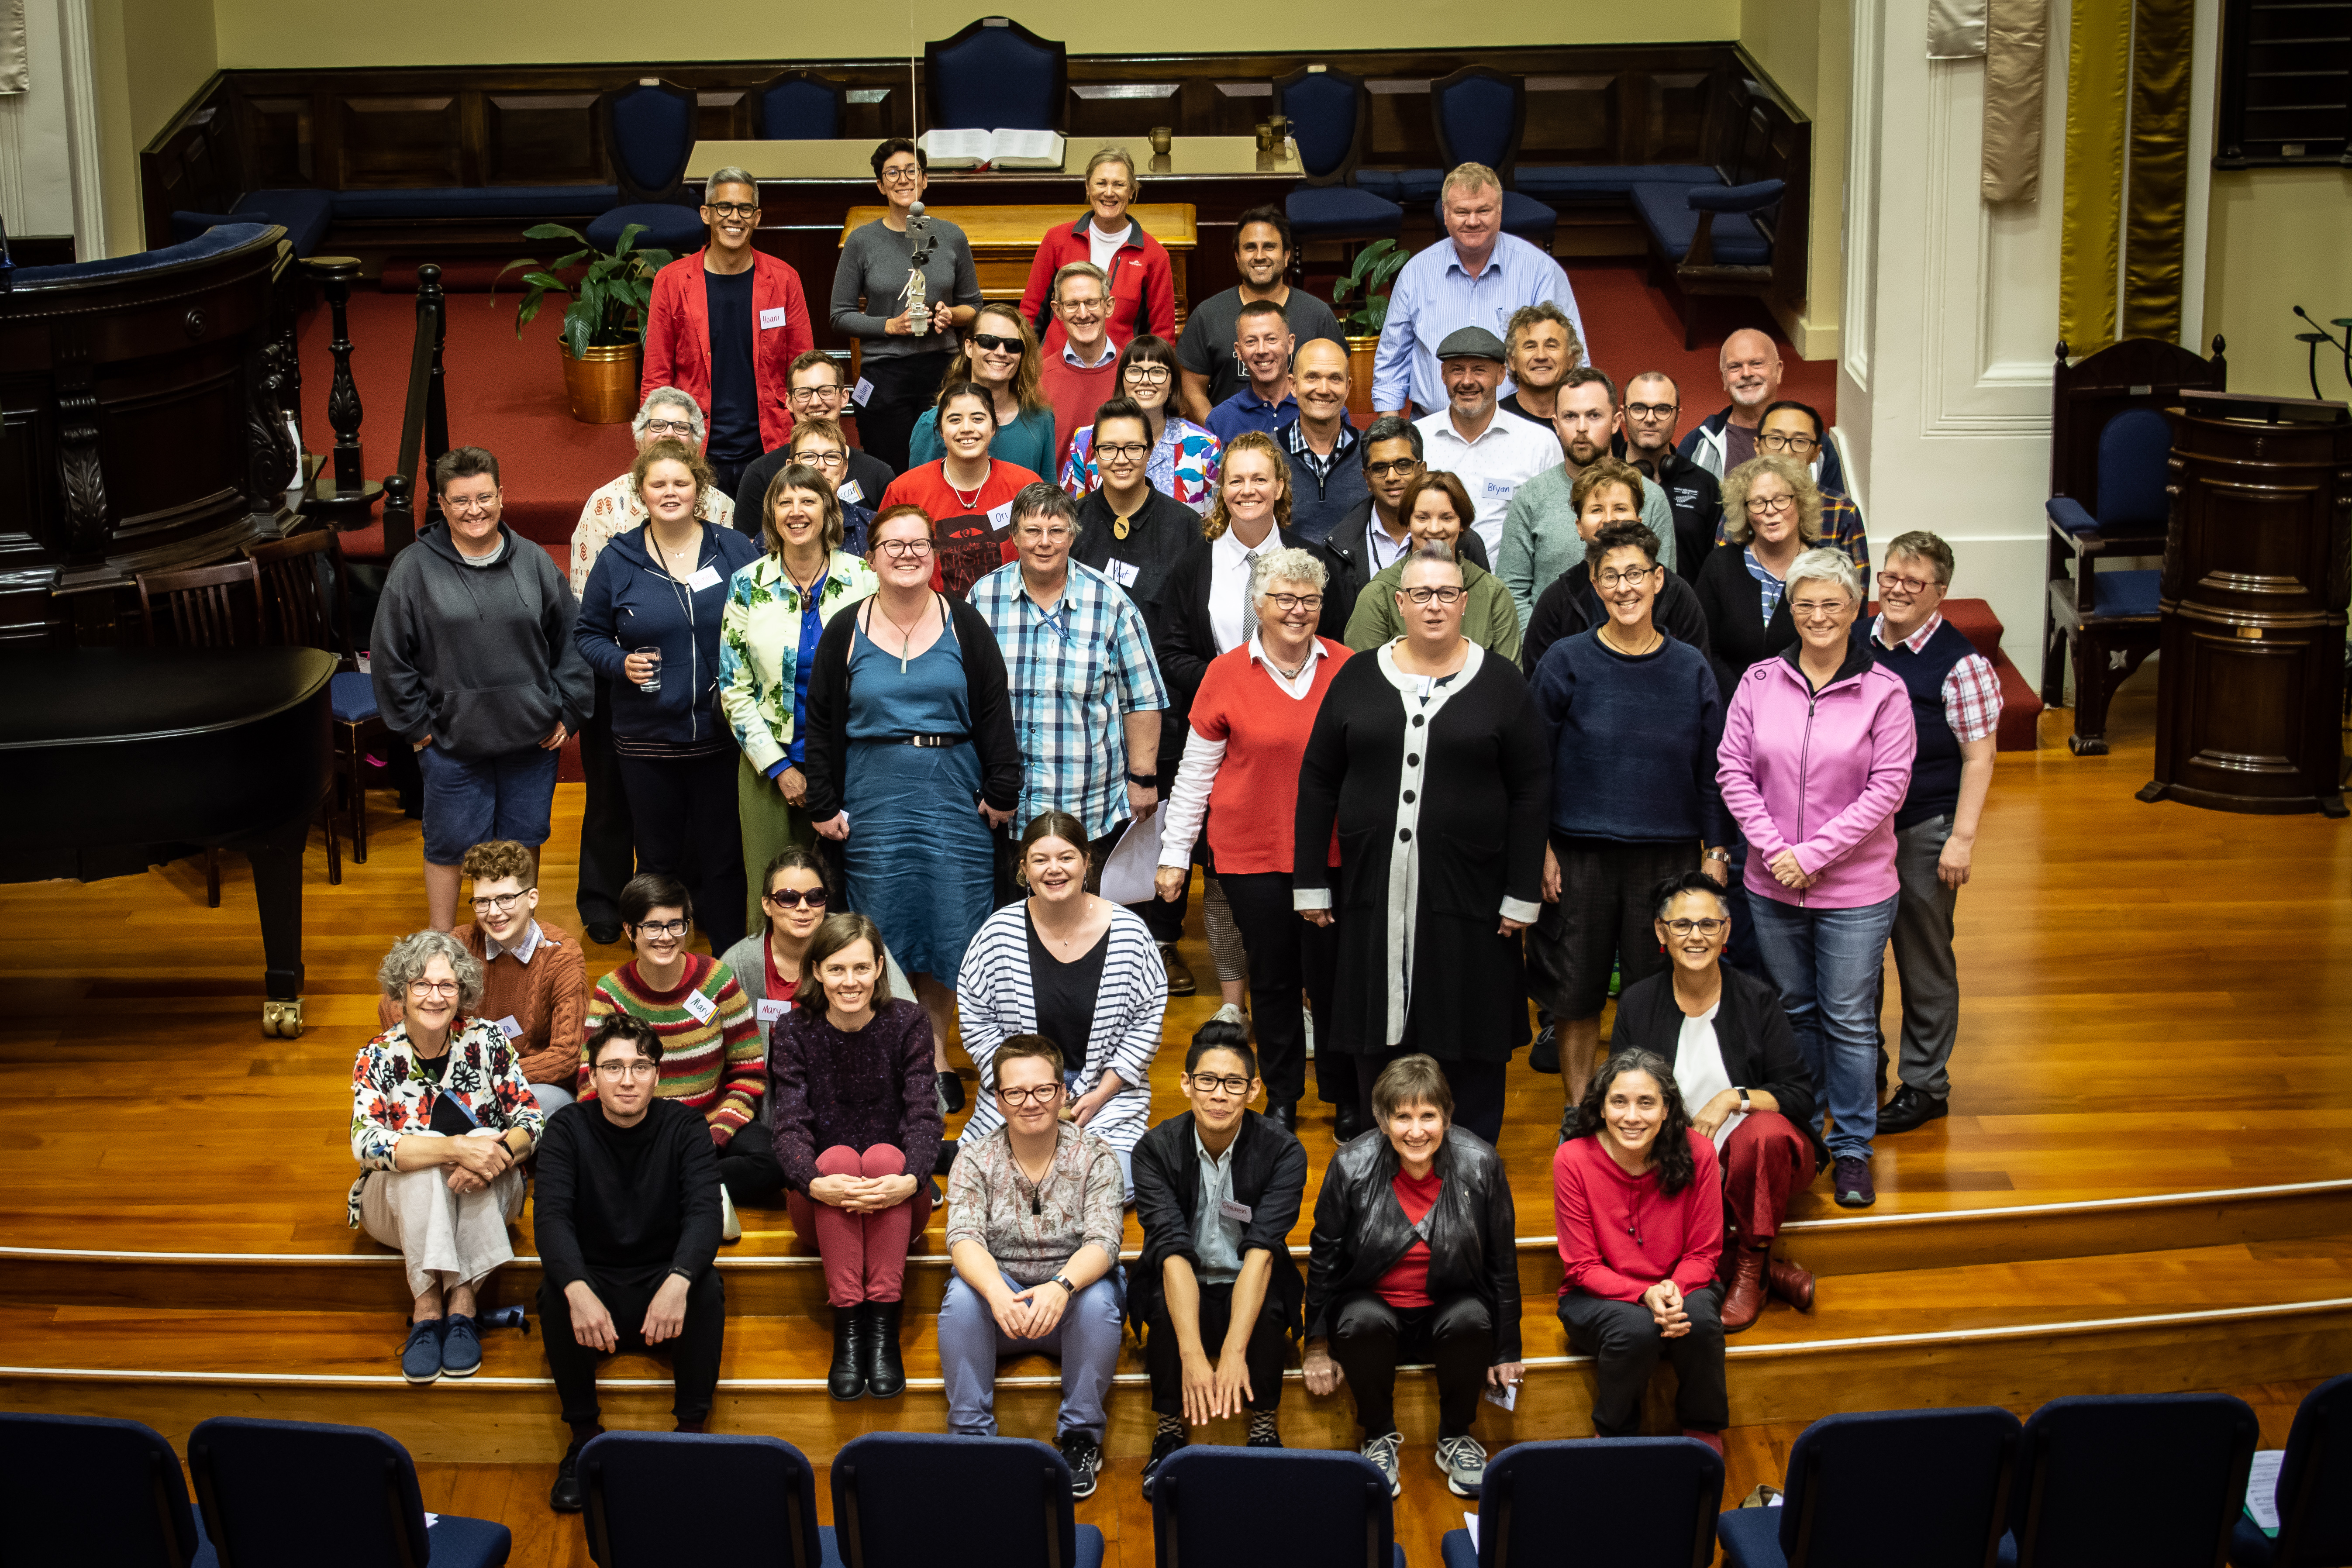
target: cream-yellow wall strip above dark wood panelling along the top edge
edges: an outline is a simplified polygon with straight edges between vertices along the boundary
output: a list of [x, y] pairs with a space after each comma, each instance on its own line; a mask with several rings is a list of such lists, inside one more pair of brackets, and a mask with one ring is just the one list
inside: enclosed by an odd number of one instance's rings
[[[179, 0], [202, 5], [202, 0]], [[221, 66], [456, 66], [487, 61], [687, 61], [896, 56], [974, 16], [1007, 14], [1061, 38], [1073, 54], [1131, 54], [1178, 42], [1131, 7], [1007, 7], [985, 0], [856, 5], [703, 0], [689, 26], [661, 26], [635, 0], [576, 0], [562, 12], [517, 0], [409, 0], [322, 12], [315, 0], [212, 0]], [[560, 26], [550, 26], [560, 16]], [[1740, 0], [1651, 0], [1639, 7], [1555, 7], [1517, 0], [1456, 12], [1425, 0], [1362, 0], [1334, 26], [1329, 7], [1207, 0], [1185, 7], [1185, 38], [1209, 49], [1461, 49], [1463, 45], [1675, 42], [1738, 38]]]

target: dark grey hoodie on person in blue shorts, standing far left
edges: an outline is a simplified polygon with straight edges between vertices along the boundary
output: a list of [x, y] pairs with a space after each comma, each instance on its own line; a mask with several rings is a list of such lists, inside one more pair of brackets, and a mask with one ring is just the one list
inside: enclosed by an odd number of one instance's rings
[[393, 559], [369, 639], [376, 708], [395, 736], [480, 762], [536, 748], [595, 710], [572, 644], [579, 607], [548, 552], [506, 524], [503, 555], [468, 567], [435, 524]]

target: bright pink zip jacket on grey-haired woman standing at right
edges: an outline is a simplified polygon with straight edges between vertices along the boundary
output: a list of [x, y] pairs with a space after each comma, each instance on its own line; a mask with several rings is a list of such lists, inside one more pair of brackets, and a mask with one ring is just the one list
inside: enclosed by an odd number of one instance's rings
[[[1919, 750], [1903, 677], [1853, 651], [1818, 693], [1797, 649], [1750, 665], [1724, 715], [1724, 806], [1748, 837], [1748, 891], [1809, 910], [1896, 896], [1896, 806]], [[1771, 875], [1783, 849], [1813, 886]]]

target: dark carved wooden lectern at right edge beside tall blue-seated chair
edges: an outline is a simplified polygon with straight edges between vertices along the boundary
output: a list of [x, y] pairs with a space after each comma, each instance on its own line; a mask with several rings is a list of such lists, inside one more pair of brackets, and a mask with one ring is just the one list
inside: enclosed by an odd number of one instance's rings
[[2173, 423], [2157, 776], [2140, 799], [2345, 816], [2352, 411], [2185, 393]]

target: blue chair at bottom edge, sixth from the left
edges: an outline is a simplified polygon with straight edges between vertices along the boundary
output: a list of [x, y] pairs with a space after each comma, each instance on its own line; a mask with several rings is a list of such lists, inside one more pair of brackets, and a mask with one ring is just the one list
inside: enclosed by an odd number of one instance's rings
[[1437, 1547], [1446, 1568], [1708, 1568], [1719, 1507], [1724, 1455], [1696, 1436], [1512, 1443], [1486, 1465], [1477, 1547], [1470, 1530]]

